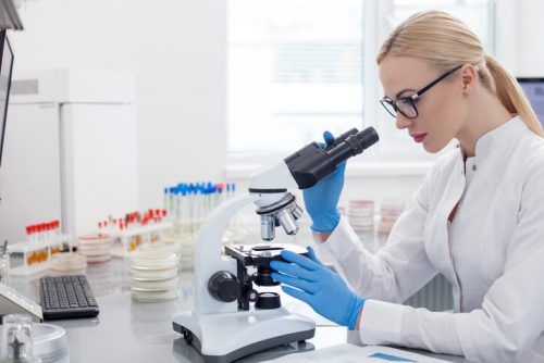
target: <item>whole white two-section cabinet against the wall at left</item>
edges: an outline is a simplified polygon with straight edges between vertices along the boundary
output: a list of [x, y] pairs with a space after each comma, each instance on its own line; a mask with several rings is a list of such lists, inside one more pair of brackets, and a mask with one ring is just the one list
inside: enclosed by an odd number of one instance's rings
[[14, 76], [0, 179], [0, 240], [61, 220], [72, 235], [138, 209], [137, 126], [129, 74]]

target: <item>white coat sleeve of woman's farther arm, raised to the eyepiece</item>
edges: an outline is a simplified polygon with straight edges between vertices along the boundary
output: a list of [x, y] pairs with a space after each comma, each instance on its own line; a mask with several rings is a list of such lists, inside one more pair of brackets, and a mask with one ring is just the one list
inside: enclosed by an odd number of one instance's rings
[[434, 177], [431, 171], [393, 227], [387, 245], [372, 254], [345, 217], [319, 250], [332, 254], [336, 271], [354, 291], [373, 299], [404, 302], [434, 275], [424, 245], [423, 229]]

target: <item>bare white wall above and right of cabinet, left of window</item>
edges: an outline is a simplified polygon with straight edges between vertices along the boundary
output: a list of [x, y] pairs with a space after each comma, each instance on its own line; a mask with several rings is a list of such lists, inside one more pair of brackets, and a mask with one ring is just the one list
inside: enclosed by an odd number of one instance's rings
[[12, 33], [15, 72], [95, 67], [136, 75], [140, 203], [162, 187], [222, 178], [225, 155], [225, 2], [39, 0]]

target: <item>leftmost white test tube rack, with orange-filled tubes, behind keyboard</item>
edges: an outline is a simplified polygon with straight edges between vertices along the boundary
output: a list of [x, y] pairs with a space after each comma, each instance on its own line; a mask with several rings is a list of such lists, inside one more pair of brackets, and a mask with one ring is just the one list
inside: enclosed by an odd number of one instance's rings
[[23, 241], [9, 245], [10, 253], [22, 253], [23, 264], [10, 268], [13, 276], [28, 276], [44, 271], [51, 266], [51, 255], [60, 252], [63, 242], [73, 240], [71, 235], [58, 235], [40, 241]]

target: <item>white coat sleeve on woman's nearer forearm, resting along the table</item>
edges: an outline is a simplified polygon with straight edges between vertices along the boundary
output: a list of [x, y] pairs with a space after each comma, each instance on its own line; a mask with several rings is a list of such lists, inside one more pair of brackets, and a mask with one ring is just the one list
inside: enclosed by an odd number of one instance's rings
[[368, 300], [359, 325], [361, 341], [424, 348], [471, 362], [542, 362], [527, 349], [544, 330], [542, 185], [540, 166], [523, 186], [504, 274], [491, 286], [482, 308], [454, 314]]

